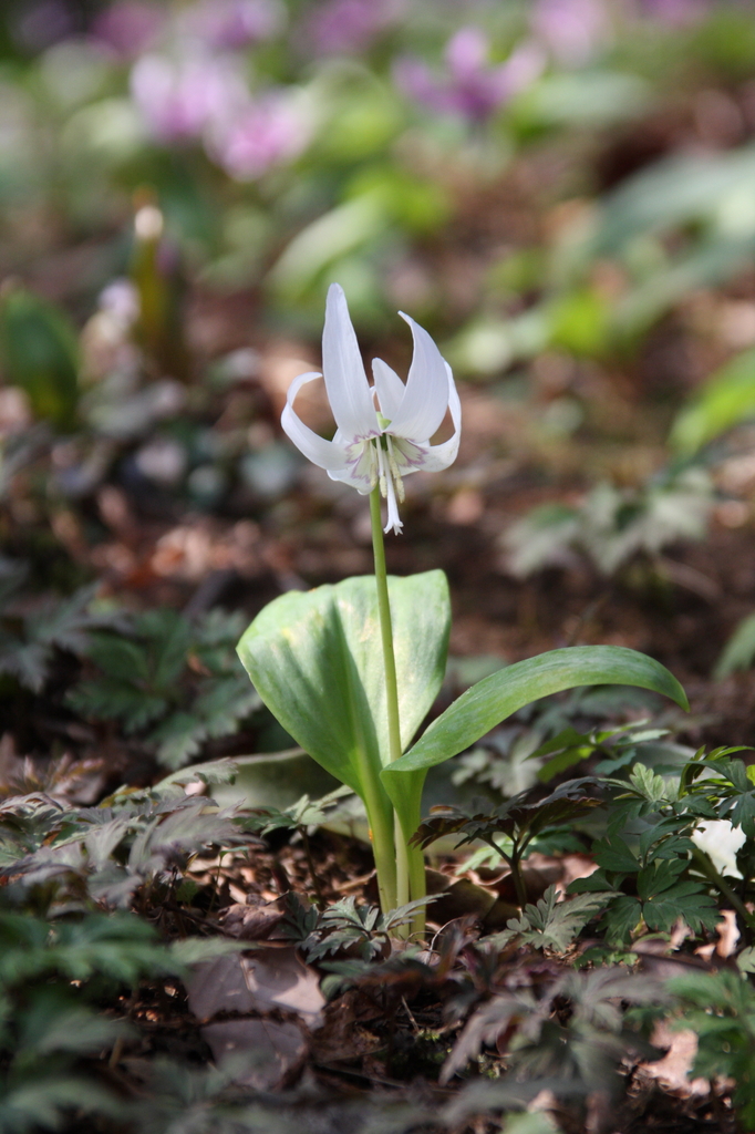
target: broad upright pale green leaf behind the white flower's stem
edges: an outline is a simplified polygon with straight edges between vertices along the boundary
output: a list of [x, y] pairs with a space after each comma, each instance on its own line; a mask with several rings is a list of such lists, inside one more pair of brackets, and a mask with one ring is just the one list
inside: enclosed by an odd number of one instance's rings
[[[440, 570], [388, 581], [401, 743], [410, 742], [443, 680], [450, 604]], [[239, 657], [264, 703], [332, 776], [391, 822], [378, 775], [388, 764], [385, 678], [373, 576], [289, 592], [255, 618]], [[419, 822], [424, 769], [395, 799], [405, 830]], [[372, 787], [371, 787], [372, 785]], [[412, 826], [414, 824], [414, 826]]]

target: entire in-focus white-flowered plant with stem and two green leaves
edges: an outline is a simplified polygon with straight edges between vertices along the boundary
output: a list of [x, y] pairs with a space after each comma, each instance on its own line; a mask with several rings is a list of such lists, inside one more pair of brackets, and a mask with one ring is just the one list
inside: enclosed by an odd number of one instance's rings
[[[406, 316], [405, 316], [406, 318]], [[364, 802], [383, 911], [425, 896], [422, 853], [409, 840], [422, 816], [427, 770], [463, 752], [519, 709], [578, 685], [636, 685], [687, 708], [684, 689], [659, 662], [621, 646], [574, 646], [518, 662], [474, 685], [412, 744], [440, 689], [450, 631], [448, 583], [440, 570], [389, 577], [385, 531], [401, 530], [402, 479], [449, 465], [458, 451], [460, 405], [450, 367], [430, 336], [407, 319], [414, 357], [406, 386], [380, 359], [367, 384], [342, 290], [332, 285], [323, 333], [323, 374], [338, 431], [332, 441], [294, 413], [282, 424], [334, 480], [371, 494], [375, 575], [307, 593], [283, 594], [252, 623], [239, 657], [283, 728]], [[380, 411], [375, 408], [375, 397]], [[446, 411], [453, 435], [431, 446]], [[422, 907], [413, 930], [424, 929]]]

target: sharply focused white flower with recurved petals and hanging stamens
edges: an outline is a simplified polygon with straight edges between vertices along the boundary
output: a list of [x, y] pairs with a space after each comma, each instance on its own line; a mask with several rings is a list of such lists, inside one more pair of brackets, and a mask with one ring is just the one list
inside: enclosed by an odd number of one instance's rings
[[[398, 535], [402, 524], [398, 505], [404, 500], [402, 479], [421, 469], [434, 473], [456, 460], [461, 429], [461, 406], [451, 367], [440, 350], [408, 315], [414, 355], [406, 386], [381, 358], [374, 358], [374, 386], [367, 382], [343, 289], [331, 284], [322, 335], [323, 373], [299, 374], [289, 388], [281, 425], [294, 445], [334, 481], [358, 492], [376, 484], [388, 500], [388, 523]], [[294, 412], [294, 400], [306, 382], [324, 378], [328, 400], [338, 429], [332, 441], [314, 433]], [[453, 434], [441, 445], [430, 439], [450, 409]]]

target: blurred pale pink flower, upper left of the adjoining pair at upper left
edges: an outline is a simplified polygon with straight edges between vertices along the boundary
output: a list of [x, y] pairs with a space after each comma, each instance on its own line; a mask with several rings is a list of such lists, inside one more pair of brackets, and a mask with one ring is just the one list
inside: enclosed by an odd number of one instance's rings
[[132, 70], [132, 95], [161, 142], [190, 141], [211, 127], [222, 128], [247, 100], [231, 61], [202, 54], [179, 61], [143, 56]]

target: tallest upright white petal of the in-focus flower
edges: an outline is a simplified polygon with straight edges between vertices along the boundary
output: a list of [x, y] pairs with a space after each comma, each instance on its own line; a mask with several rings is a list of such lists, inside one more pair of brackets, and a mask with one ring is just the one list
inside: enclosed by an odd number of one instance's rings
[[331, 284], [322, 332], [322, 370], [336, 424], [347, 437], [374, 437], [380, 430], [343, 288]]

